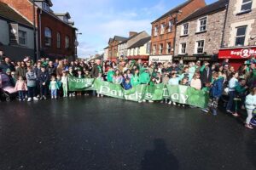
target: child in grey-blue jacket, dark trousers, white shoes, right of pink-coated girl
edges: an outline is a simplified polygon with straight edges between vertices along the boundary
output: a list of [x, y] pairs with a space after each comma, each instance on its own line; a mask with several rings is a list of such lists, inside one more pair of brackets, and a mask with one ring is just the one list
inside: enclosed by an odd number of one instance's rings
[[27, 81], [27, 90], [28, 90], [28, 99], [27, 99], [27, 101], [30, 102], [30, 101], [32, 101], [32, 99], [34, 101], [38, 101], [38, 98], [35, 96], [36, 87], [37, 87], [37, 75], [32, 70], [31, 66], [27, 67], [26, 81]]

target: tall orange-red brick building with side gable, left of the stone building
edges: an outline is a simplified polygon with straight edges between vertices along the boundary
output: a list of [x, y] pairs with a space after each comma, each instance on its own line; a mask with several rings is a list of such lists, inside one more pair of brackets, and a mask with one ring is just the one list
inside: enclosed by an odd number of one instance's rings
[[[151, 54], [150, 58], [165, 58], [172, 60], [176, 37], [177, 21], [183, 20], [198, 8], [206, 5], [204, 0], [188, 0], [172, 8], [159, 19], [152, 22]], [[159, 59], [160, 60], [160, 59]]]

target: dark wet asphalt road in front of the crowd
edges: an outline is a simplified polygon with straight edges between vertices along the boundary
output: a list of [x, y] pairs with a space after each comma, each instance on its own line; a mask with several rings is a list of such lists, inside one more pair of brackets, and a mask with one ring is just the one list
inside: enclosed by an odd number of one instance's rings
[[253, 170], [256, 129], [199, 109], [77, 97], [0, 103], [0, 170]]

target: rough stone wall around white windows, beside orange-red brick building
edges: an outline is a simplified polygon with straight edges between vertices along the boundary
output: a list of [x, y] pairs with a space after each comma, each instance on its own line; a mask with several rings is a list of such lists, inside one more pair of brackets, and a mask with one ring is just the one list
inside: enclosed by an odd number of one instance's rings
[[[195, 54], [195, 43], [200, 40], [205, 41], [204, 51], [207, 52], [207, 54], [218, 54], [218, 49], [221, 46], [222, 31], [224, 28], [225, 10], [205, 16], [207, 16], [206, 32], [195, 34], [197, 31], [198, 19], [189, 21], [189, 35], [186, 37], [181, 36], [182, 24], [184, 23], [177, 26], [175, 55], [179, 54], [180, 43], [182, 42], [187, 43], [186, 53], [189, 54], [189, 56]], [[201, 16], [200, 18], [202, 17], [204, 16]]]

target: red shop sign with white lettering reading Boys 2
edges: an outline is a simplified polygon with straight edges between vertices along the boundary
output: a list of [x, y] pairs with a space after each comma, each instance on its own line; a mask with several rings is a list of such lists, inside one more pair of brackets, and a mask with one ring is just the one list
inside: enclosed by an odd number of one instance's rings
[[248, 59], [256, 55], [256, 47], [219, 49], [218, 59]]

